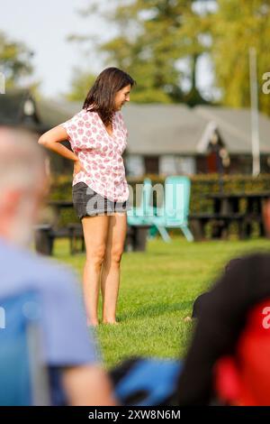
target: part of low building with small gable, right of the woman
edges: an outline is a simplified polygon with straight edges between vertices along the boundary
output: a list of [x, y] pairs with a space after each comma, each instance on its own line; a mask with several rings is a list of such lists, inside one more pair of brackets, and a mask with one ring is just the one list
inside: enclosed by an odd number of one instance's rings
[[[123, 109], [130, 137], [130, 175], [251, 173], [248, 109], [218, 106], [129, 105]], [[262, 171], [270, 171], [270, 119], [260, 114]]]

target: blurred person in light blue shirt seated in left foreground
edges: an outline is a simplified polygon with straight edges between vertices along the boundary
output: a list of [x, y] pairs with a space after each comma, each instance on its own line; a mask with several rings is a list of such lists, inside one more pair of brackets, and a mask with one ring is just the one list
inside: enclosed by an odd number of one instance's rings
[[51, 404], [114, 405], [75, 275], [28, 249], [49, 189], [45, 163], [29, 134], [0, 126], [0, 303], [23, 290], [38, 293]]

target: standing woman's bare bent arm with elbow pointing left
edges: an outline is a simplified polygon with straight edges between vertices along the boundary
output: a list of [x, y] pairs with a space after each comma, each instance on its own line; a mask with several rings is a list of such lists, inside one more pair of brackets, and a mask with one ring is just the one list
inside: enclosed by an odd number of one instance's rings
[[58, 125], [47, 131], [47, 133], [42, 134], [38, 143], [46, 147], [46, 149], [64, 156], [64, 158], [75, 162], [78, 161], [78, 157], [74, 152], [71, 152], [63, 144], [59, 143], [65, 140], [68, 140], [67, 131], [63, 126]]

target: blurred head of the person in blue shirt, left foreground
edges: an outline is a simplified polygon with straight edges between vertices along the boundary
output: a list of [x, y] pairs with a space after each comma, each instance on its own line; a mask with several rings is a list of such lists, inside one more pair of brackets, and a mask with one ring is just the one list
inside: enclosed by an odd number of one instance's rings
[[25, 246], [48, 191], [46, 161], [25, 130], [0, 126], [0, 236]]

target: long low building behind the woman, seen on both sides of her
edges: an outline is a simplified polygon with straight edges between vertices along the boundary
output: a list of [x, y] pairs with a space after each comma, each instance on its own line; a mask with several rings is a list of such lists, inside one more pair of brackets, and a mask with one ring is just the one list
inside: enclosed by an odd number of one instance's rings
[[[34, 100], [27, 90], [21, 90], [0, 96], [0, 122], [21, 123], [39, 136], [81, 107], [76, 102]], [[130, 177], [252, 172], [249, 109], [130, 103], [122, 112], [129, 129], [124, 160]], [[259, 130], [261, 171], [270, 172], [270, 119], [266, 115], [259, 115]], [[69, 172], [71, 167], [69, 161], [52, 153], [55, 172]]]

